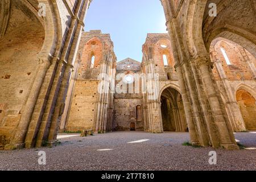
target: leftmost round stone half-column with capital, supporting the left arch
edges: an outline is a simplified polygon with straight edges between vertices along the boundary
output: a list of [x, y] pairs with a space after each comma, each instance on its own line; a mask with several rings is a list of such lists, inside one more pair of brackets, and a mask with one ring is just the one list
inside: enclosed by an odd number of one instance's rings
[[[45, 57], [42, 55], [42, 57]], [[14, 138], [11, 140], [11, 143], [6, 145], [6, 150], [13, 150], [15, 148], [23, 148], [24, 140], [26, 138], [27, 130], [30, 125], [31, 116], [33, 114], [36, 101], [38, 100], [40, 89], [43, 85], [44, 77], [49, 68], [50, 62], [46, 59], [39, 59], [39, 68], [37, 70], [35, 80], [33, 82], [30, 94], [28, 95], [26, 105], [22, 116], [19, 121], [19, 125], [15, 131]]]

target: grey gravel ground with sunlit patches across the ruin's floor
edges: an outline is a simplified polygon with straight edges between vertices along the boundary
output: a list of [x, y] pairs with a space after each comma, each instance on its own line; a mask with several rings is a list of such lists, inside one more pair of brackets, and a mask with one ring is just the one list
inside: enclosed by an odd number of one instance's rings
[[[60, 134], [59, 137], [67, 137]], [[246, 147], [256, 147], [256, 132], [237, 133]], [[141, 143], [127, 143], [148, 139]], [[208, 163], [213, 148], [183, 146], [188, 133], [151, 134], [137, 131], [61, 138], [52, 148], [0, 151], [0, 170], [256, 170], [254, 150], [216, 150], [217, 164]], [[112, 149], [110, 151], [98, 151]], [[253, 149], [253, 148], [251, 148]], [[46, 152], [46, 165], [38, 152]]]

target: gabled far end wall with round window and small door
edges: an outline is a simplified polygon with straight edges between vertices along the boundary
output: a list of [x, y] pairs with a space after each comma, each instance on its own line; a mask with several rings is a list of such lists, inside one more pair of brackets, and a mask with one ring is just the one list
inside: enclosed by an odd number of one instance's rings
[[[143, 117], [138, 118], [138, 107], [142, 107], [142, 82], [139, 76], [141, 75], [141, 63], [131, 58], [119, 61], [117, 63], [117, 75], [115, 76], [115, 88], [121, 89], [122, 92], [114, 94], [114, 124], [113, 130], [131, 130], [131, 125], [135, 124], [135, 130], [144, 130]], [[131, 77], [130, 82], [126, 82], [126, 76]], [[137, 78], [135, 78], [138, 76]], [[138, 84], [138, 85], [137, 85]], [[137, 90], [135, 90], [135, 88]], [[142, 112], [142, 110], [141, 110]], [[141, 114], [142, 115], [142, 114]]]

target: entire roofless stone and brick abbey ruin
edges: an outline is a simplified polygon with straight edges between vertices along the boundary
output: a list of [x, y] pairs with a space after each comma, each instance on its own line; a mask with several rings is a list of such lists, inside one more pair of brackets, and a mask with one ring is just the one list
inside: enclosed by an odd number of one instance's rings
[[90, 2], [0, 1], [1, 149], [136, 130], [236, 150], [233, 133], [256, 130], [254, 0], [161, 0], [168, 34], [148, 32], [142, 60], [117, 60], [110, 34], [84, 31]]

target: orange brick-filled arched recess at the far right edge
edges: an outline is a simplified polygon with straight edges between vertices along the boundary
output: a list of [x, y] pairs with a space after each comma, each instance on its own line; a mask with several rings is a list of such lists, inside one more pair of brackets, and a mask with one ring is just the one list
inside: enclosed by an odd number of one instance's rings
[[256, 130], [255, 98], [246, 90], [239, 89], [236, 93], [237, 104], [240, 107], [247, 130]]

